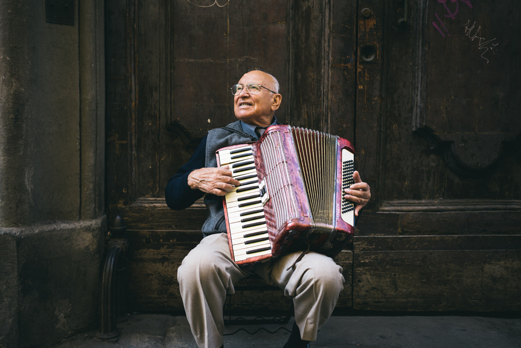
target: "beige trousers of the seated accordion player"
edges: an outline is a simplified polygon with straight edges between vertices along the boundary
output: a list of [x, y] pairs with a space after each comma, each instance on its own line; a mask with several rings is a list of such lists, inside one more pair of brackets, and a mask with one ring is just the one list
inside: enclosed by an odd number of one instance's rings
[[177, 279], [192, 334], [199, 347], [220, 347], [223, 343], [222, 309], [233, 284], [250, 274], [258, 274], [268, 284], [277, 285], [293, 299], [295, 322], [301, 337], [315, 341], [317, 331], [331, 316], [343, 289], [342, 268], [330, 257], [308, 252], [291, 267], [300, 252], [274, 260], [240, 267], [230, 257], [226, 233], [203, 238], [184, 258]]

